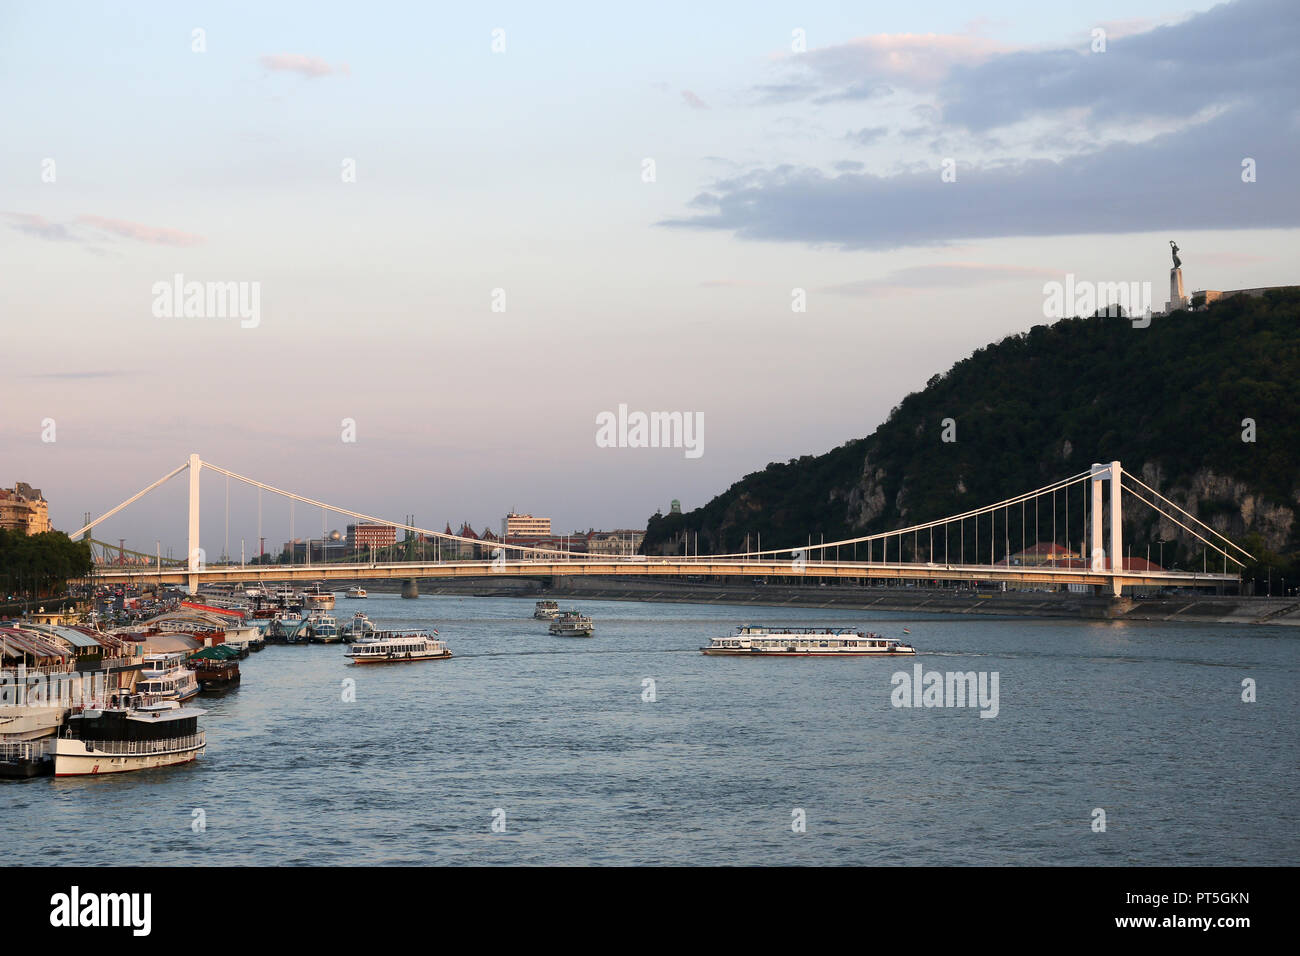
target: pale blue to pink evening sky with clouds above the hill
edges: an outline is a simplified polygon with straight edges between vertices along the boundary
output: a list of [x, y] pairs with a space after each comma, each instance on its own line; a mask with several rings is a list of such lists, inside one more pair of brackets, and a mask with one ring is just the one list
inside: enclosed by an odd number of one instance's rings
[[[0, 3], [0, 485], [73, 531], [199, 453], [640, 528], [868, 434], [1067, 274], [1158, 310], [1175, 239], [1188, 290], [1300, 280], [1290, 1], [559, 7]], [[168, 315], [176, 276], [256, 317]], [[602, 447], [620, 406], [701, 453]], [[229, 496], [209, 554], [289, 537]], [[96, 537], [181, 553], [185, 502]]]

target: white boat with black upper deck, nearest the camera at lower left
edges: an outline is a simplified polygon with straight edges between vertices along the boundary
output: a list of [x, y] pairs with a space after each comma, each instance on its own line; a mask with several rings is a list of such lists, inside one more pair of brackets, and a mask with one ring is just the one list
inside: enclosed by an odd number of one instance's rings
[[188, 763], [207, 747], [199, 730], [205, 710], [176, 701], [83, 710], [73, 714], [55, 740], [55, 777], [120, 774]]

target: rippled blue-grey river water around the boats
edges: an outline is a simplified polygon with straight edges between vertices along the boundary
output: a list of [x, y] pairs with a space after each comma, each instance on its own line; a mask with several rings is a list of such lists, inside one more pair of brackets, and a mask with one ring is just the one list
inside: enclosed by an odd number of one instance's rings
[[[573, 605], [594, 639], [549, 636], [532, 600], [341, 598], [341, 622], [432, 626], [455, 658], [269, 646], [198, 698], [198, 762], [0, 783], [5, 864], [1300, 858], [1292, 630]], [[918, 656], [698, 653], [746, 622], [907, 626]], [[894, 706], [918, 663], [996, 672], [997, 715]]]

